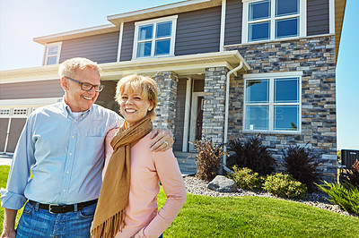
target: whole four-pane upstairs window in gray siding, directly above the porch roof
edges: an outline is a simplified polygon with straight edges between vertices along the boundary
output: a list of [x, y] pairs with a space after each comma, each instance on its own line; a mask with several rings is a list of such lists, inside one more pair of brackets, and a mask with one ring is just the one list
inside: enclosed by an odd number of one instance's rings
[[135, 25], [133, 59], [174, 55], [177, 15]]

